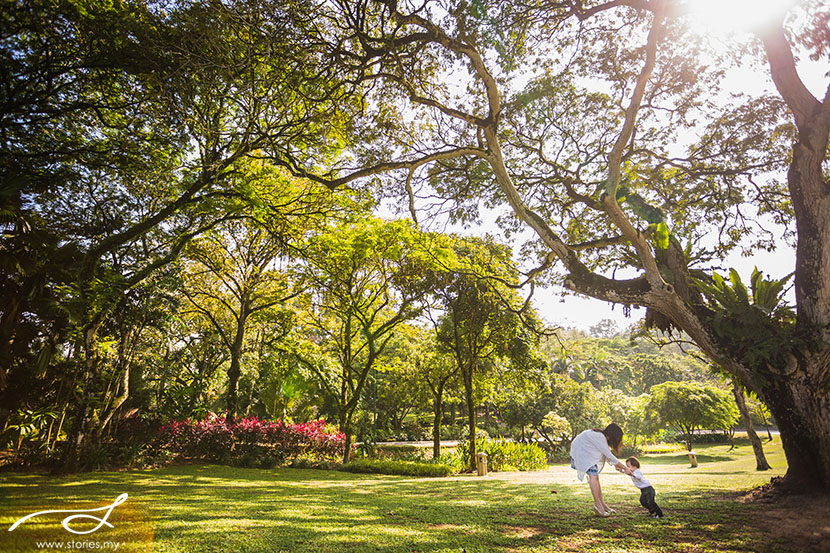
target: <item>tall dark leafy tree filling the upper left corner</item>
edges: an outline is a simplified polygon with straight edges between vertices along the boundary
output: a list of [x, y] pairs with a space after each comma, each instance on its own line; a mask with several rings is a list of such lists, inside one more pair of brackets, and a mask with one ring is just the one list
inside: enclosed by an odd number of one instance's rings
[[[53, 367], [71, 366], [48, 384], [66, 388], [52, 395], [71, 411], [68, 469], [96, 447], [129, 394], [129, 367], [113, 375], [102, 355], [119, 314], [200, 233], [253, 210], [291, 214], [240, 182], [242, 166], [266, 152], [308, 160], [341, 147], [341, 97], [294, 39], [303, 26], [296, 7], [4, 5], [0, 209], [9, 274], [0, 281], [13, 295], [2, 298], [0, 389], [25, 387], [15, 402], [38, 401], [44, 386], [31, 382], [38, 377], [27, 360], [44, 342], [71, 352], [55, 356]], [[21, 265], [32, 253], [36, 262]], [[69, 316], [50, 307], [56, 298]]]

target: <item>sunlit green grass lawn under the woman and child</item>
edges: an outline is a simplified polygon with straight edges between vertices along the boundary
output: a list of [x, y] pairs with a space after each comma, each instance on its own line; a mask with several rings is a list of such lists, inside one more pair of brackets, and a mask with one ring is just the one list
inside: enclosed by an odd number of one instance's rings
[[738, 500], [783, 474], [778, 438], [765, 449], [774, 470], [763, 473], [745, 443], [732, 452], [696, 448], [695, 469], [677, 453], [642, 457], [662, 520], [646, 517], [630, 479], [609, 468], [601, 481], [618, 514], [608, 519], [592, 515], [588, 486], [565, 465], [437, 479], [213, 465], [59, 478], [4, 473], [5, 528], [41, 510], [101, 507], [125, 492], [129, 499], [113, 509], [113, 528], [74, 535], [60, 527], [68, 514], [44, 514], [0, 531], [0, 551], [48, 551], [37, 543], [45, 540], [60, 542], [51, 550], [70, 542], [74, 550], [165, 553], [830, 551], [827, 512], [815, 517], [818, 529], [801, 529], [781, 524], [793, 506]]

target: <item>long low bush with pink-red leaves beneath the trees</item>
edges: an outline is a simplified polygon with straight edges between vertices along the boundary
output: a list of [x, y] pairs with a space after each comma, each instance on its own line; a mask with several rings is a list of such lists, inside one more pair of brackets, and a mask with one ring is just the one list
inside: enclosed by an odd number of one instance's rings
[[182, 457], [273, 466], [298, 457], [336, 459], [346, 437], [329, 430], [323, 420], [288, 424], [246, 417], [228, 424], [224, 416], [211, 414], [202, 421], [188, 419], [162, 426], [159, 441]]

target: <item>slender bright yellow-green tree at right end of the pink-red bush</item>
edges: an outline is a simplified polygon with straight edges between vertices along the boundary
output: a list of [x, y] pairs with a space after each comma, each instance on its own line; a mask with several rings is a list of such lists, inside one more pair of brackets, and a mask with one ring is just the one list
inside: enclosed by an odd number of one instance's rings
[[372, 217], [332, 226], [305, 247], [292, 353], [336, 406], [343, 462], [367, 378], [396, 329], [420, 312], [432, 256], [426, 235], [408, 221]]

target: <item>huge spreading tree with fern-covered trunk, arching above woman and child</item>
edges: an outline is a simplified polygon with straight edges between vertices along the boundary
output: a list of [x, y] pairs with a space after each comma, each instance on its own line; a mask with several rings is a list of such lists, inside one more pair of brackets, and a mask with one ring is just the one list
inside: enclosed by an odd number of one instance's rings
[[[685, 332], [769, 405], [787, 481], [828, 487], [830, 89], [795, 61], [826, 62], [827, 11], [799, 3], [713, 53], [674, 0], [337, 2], [312, 46], [385, 107], [355, 170], [323, 180], [398, 175], [414, 214], [509, 206], [551, 280]], [[778, 94], [724, 102], [730, 60], [765, 63]], [[697, 286], [729, 251], [774, 247], [770, 220], [794, 225], [794, 319]]]

